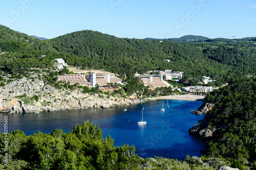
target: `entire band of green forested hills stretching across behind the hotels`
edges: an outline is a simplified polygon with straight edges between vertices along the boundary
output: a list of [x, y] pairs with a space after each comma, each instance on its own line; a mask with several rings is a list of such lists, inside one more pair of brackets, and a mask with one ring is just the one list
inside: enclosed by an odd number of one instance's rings
[[63, 58], [69, 65], [120, 75], [173, 69], [183, 71], [186, 79], [210, 76], [221, 84], [229, 77], [255, 73], [254, 47], [254, 39], [160, 43], [117, 38], [91, 30], [39, 40], [0, 25], [0, 67], [11, 74], [31, 67], [50, 68], [55, 58]]

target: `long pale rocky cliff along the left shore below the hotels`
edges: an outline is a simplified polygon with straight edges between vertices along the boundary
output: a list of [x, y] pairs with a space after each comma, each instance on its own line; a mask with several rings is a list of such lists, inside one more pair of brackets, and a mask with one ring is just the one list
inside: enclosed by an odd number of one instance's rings
[[[36, 78], [37, 75], [34, 75]], [[25, 95], [26, 94], [26, 95]], [[135, 96], [84, 94], [79, 89], [56, 89], [44, 81], [23, 78], [0, 88], [0, 112], [39, 113], [86, 108], [112, 108], [121, 105], [141, 103]]]

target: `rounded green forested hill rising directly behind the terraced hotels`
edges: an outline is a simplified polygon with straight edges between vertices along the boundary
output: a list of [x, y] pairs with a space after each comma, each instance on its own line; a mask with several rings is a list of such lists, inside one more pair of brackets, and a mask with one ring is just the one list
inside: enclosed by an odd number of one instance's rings
[[[203, 51], [195, 45], [170, 41], [117, 38], [87, 30], [47, 41], [58, 52], [74, 55], [65, 58], [68, 64], [102, 68], [119, 74], [173, 69], [191, 77], [207, 75], [222, 79], [234, 69], [204, 57]], [[166, 59], [171, 62], [166, 62]]]

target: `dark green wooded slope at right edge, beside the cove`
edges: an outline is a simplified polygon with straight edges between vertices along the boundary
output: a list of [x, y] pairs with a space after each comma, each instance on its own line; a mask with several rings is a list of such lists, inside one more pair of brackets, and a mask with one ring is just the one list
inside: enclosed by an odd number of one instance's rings
[[207, 155], [229, 159], [239, 169], [256, 169], [256, 79], [244, 79], [212, 91], [206, 101], [215, 103], [205, 119], [219, 131]]

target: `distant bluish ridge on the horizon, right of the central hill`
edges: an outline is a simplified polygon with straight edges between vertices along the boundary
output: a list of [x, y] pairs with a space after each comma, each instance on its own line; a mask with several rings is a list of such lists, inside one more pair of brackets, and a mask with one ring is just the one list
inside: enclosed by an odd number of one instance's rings
[[198, 36], [198, 35], [185, 35], [183, 37], [180, 38], [164, 38], [164, 39], [158, 39], [158, 38], [144, 38], [144, 40], [150, 40], [150, 41], [154, 41], [154, 40], [159, 40], [159, 41], [173, 41], [173, 42], [186, 42], [186, 41], [205, 41], [207, 39], [207, 37], [203, 37], [203, 36]]

